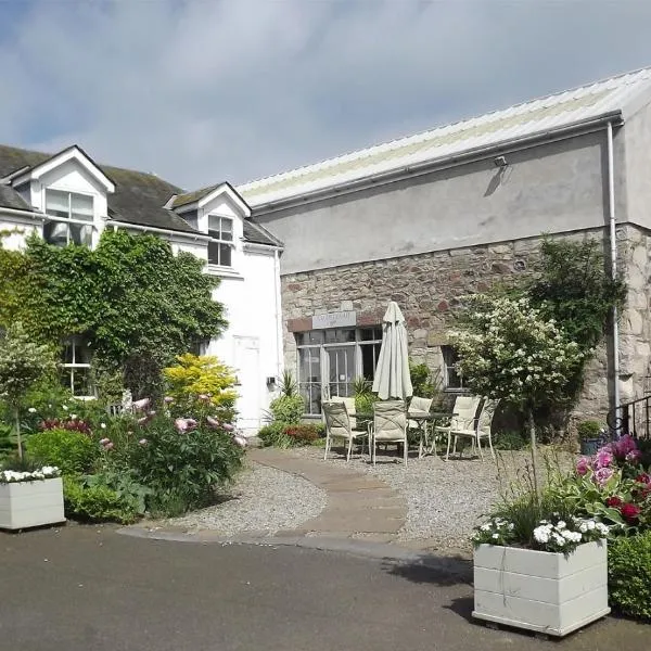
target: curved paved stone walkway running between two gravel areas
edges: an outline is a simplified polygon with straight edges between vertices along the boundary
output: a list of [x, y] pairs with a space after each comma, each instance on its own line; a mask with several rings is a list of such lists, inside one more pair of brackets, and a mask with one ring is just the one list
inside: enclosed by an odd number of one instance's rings
[[405, 524], [407, 503], [384, 482], [346, 468], [293, 457], [286, 450], [252, 449], [248, 458], [263, 465], [291, 472], [328, 495], [321, 513], [299, 528], [278, 532], [277, 537], [352, 538], [393, 542]]

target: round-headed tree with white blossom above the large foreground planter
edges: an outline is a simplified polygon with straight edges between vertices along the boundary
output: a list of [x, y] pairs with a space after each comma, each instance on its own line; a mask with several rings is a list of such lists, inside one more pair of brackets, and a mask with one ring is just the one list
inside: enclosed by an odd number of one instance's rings
[[459, 371], [476, 395], [511, 403], [525, 413], [538, 490], [534, 413], [566, 399], [570, 380], [587, 353], [526, 297], [472, 296], [460, 323], [450, 337]]

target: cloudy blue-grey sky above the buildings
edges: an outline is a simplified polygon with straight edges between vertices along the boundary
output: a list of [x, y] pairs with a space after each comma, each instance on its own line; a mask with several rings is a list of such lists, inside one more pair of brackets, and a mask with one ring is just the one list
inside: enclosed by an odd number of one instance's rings
[[77, 142], [188, 188], [651, 64], [634, 0], [46, 0], [13, 25], [1, 142]]

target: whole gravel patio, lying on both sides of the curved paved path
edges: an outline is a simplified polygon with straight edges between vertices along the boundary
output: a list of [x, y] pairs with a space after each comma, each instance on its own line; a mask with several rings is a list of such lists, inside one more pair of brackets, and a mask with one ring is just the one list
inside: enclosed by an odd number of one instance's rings
[[[434, 456], [418, 459], [412, 455], [406, 469], [392, 450], [379, 454], [375, 468], [367, 457], [355, 456], [346, 463], [342, 452], [335, 449], [328, 461], [323, 461], [323, 449], [319, 447], [281, 454], [384, 482], [407, 502], [406, 522], [396, 542], [441, 551], [469, 550], [469, 536], [477, 520], [509, 494], [514, 482], [531, 477], [531, 455], [524, 450], [498, 451], [497, 462], [476, 458], [444, 461]], [[542, 457], [561, 468], [570, 467], [573, 459], [553, 450], [542, 452], [541, 462]], [[327, 493], [311, 482], [248, 461], [220, 503], [148, 525], [188, 533], [212, 531], [224, 536], [273, 534], [299, 527], [316, 518], [327, 502]]]

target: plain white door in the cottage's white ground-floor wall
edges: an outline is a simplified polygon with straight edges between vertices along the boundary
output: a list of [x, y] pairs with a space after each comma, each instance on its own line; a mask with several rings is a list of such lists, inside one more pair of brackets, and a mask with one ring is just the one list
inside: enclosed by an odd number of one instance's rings
[[238, 427], [245, 433], [255, 433], [260, 426], [260, 385], [259, 340], [255, 336], [235, 336], [235, 369], [240, 386], [240, 397], [235, 404]]

